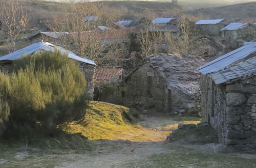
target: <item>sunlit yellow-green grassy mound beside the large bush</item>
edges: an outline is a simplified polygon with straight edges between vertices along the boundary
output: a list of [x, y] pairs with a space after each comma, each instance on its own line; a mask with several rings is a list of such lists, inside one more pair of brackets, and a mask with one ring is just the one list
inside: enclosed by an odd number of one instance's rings
[[129, 108], [104, 102], [91, 102], [86, 119], [61, 125], [68, 133], [81, 133], [91, 140], [127, 139], [134, 142], [164, 141], [170, 131], [152, 131], [131, 123]]

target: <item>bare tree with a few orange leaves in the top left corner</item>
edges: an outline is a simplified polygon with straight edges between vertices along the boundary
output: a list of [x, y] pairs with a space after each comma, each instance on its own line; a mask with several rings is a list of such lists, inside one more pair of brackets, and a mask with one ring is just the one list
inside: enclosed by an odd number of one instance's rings
[[16, 39], [28, 27], [29, 11], [25, 9], [25, 4], [18, 0], [5, 0], [0, 3], [2, 31], [9, 35], [14, 50]]

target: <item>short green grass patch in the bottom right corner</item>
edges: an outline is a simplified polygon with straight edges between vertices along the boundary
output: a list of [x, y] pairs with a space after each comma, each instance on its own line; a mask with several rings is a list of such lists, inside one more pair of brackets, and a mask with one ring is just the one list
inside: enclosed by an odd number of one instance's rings
[[[193, 149], [170, 146], [166, 154], [156, 154], [136, 163], [136, 167], [255, 167], [255, 159], [242, 158], [237, 154], [217, 154], [196, 151]], [[209, 151], [210, 152], [210, 151]], [[134, 167], [135, 163], [131, 163]]]

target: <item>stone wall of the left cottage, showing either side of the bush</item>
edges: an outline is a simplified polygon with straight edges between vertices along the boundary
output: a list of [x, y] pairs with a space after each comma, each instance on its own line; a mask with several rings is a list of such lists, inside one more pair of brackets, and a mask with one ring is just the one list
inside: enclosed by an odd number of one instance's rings
[[[95, 66], [78, 62], [80, 70], [86, 76], [87, 86], [86, 86], [86, 93], [87, 95], [93, 99], [93, 92], [94, 92], [94, 73], [95, 73]], [[3, 61], [0, 62], [0, 72], [10, 74], [13, 72], [13, 64], [12, 62]]]

